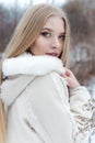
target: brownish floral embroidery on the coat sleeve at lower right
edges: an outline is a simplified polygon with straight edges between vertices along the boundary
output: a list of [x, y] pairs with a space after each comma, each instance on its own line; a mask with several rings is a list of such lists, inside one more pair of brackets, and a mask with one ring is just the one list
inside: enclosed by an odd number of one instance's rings
[[79, 138], [82, 138], [82, 140], [85, 140], [85, 138], [87, 138], [87, 141], [91, 141], [92, 134], [95, 133], [95, 131], [92, 132], [92, 129], [95, 128], [95, 121], [94, 121], [95, 119], [93, 118], [93, 113], [92, 113], [93, 108], [94, 107], [92, 100], [88, 100], [87, 103], [82, 106], [82, 110], [86, 111], [87, 116], [86, 117], [75, 116], [79, 127], [78, 127], [78, 131], [74, 134], [74, 141], [76, 141]]

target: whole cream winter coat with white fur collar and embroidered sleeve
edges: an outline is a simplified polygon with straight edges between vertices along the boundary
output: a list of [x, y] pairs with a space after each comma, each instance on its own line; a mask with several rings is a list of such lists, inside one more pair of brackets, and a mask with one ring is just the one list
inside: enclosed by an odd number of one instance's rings
[[68, 89], [62, 62], [23, 54], [3, 62], [1, 98], [7, 112], [7, 143], [88, 143], [91, 96]]

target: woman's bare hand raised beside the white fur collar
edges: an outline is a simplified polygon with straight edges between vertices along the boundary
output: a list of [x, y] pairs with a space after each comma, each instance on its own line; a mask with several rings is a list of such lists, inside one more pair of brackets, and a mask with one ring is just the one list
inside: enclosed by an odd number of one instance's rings
[[66, 78], [70, 88], [76, 88], [80, 86], [78, 79], [70, 69], [66, 68], [66, 73], [61, 74], [61, 76]]

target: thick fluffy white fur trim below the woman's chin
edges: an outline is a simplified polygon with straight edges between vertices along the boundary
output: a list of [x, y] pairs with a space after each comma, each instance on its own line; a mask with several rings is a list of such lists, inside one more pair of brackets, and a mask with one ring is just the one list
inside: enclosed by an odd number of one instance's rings
[[17, 74], [40, 76], [50, 72], [64, 73], [61, 59], [48, 55], [33, 56], [24, 53], [21, 56], [3, 61], [2, 72], [4, 76]]

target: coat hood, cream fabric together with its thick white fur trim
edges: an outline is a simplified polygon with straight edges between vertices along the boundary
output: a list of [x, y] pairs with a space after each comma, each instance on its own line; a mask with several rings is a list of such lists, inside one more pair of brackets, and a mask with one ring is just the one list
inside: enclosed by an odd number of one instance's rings
[[[35, 76], [41, 76], [50, 72], [61, 74], [64, 72], [64, 68], [62, 62], [57, 57], [33, 56], [24, 53], [21, 56], [4, 59], [2, 72], [4, 76], [13, 77], [16, 77], [14, 75], [17, 74], [25, 74], [25, 76], [13, 78], [14, 80], [5, 80], [1, 85], [0, 98], [5, 106], [10, 106]], [[16, 86], [17, 82], [20, 82], [19, 86]]]

